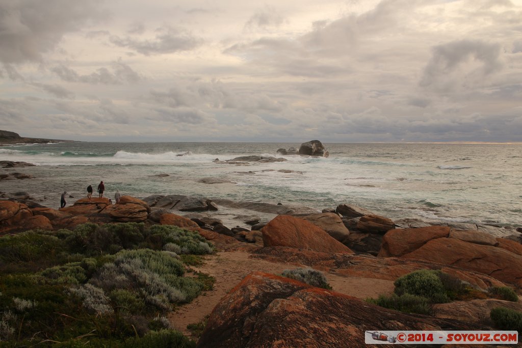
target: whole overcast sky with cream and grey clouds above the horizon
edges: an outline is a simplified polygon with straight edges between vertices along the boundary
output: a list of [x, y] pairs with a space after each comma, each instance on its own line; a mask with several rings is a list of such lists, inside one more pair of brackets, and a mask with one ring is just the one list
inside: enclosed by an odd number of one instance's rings
[[0, 0], [0, 129], [520, 142], [522, 0]]

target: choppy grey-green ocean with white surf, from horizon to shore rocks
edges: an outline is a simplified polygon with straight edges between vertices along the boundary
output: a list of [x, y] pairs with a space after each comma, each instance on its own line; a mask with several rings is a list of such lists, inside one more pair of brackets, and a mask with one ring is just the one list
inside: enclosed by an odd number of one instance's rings
[[[0, 147], [0, 160], [37, 166], [3, 169], [31, 179], [0, 181], [0, 191], [32, 195], [51, 208], [105, 183], [105, 196], [181, 194], [283, 203], [318, 211], [347, 203], [392, 219], [522, 225], [522, 146], [325, 143], [329, 158], [280, 156], [300, 143], [63, 142]], [[212, 162], [243, 155], [283, 157], [249, 165]], [[289, 170], [292, 172], [279, 172]], [[159, 174], [168, 174], [158, 176]], [[202, 178], [224, 183], [205, 184]], [[96, 195], [96, 193], [94, 194]]]

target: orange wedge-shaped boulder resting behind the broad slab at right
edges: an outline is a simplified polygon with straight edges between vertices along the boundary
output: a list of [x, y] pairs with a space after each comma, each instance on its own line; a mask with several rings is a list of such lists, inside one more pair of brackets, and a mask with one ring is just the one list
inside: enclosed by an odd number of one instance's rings
[[420, 229], [396, 229], [383, 237], [379, 257], [399, 257], [416, 250], [432, 239], [449, 235], [447, 226], [421, 227]]

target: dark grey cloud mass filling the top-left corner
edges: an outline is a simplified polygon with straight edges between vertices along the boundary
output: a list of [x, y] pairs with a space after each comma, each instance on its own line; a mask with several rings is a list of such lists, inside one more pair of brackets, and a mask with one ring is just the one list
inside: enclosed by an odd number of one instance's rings
[[40, 61], [66, 32], [100, 18], [99, 1], [3, 0], [0, 2], [0, 62]]

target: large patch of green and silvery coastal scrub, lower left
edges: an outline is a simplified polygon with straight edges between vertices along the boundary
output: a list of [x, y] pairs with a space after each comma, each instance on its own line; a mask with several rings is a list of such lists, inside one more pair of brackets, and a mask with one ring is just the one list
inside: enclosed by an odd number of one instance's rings
[[137, 223], [0, 237], [0, 347], [192, 347], [164, 315], [212, 288], [189, 265], [213, 250], [197, 233]]

